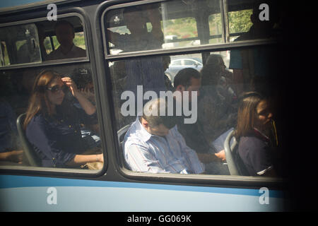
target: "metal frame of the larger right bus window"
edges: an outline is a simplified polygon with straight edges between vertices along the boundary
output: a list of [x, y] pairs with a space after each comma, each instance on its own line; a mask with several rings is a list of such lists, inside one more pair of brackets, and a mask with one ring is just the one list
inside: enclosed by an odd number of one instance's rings
[[[163, 0], [165, 1], [165, 0]], [[226, 0], [220, 0], [222, 2], [226, 2]], [[98, 37], [98, 46], [100, 47], [100, 52], [97, 53], [100, 56], [100, 61], [103, 61], [105, 64], [100, 65], [100, 72], [106, 73], [106, 81], [105, 83], [111, 84], [111, 73], [109, 70], [109, 62], [110, 61], [119, 61], [126, 59], [134, 59], [138, 57], [148, 57], [148, 56], [171, 56], [178, 54], [209, 54], [210, 52], [219, 52], [219, 51], [230, 51], [232, 49], [242, 49], [245, 47], [257, 47], [264, 45], [272, 45], [278, 44], [276, 40], [244, 40], [240, 42], [228, 42], [220, 43], [220, 44], [202, 44], [195, 47], [182, 47], [175, 49], [154, 49], [154, 50], [145, 50], [138, 52], [128, 52], [117, 55], [110, 54], [110, 48], [107, 43], [107, 35], [105, 33], [105, 25], [104, 19], [105, 15], [108, 11], [115, 8], [124, 8], [128, 6], [139, 6], [141, 4], [151, 4], [158, 3], [160, 0], [150, 1], [150, 0], [141, 0], [141, 1], [126, 1], [126, 0], [117, 0], [117, 1], [106, 1], [100, 4], [98, 8], [98, 13], [96, 13], [95, 23], [100, 28], [97, 30]], [[227, 13], [226, 13], [227, 15]], [[229, 38], [229, 36], [228, 36]], [[113, 105], [113, 97], [111, 90], [107, 90], [107, 97], [104, 102], [104, 105], [107, 105], [107, 110], [110, 111], [112, 131], [109, 131], [107, 140], [112, 140], [111, 147], [112, 150], [115, 151], [115, 160], [114, 166], [117, 171], [122, 174], [122, 177], [126, 179], [133, 179], [137, 182], [160, 182], [160, 183], [185, 183], [185, 184], [201, 184], [200, 186], [230, 186], [230, 187], [242, 187], [247, 189], [259, 188], [261, 186], [267, 186], [269, 188], [274, 189], [282, 189], [285, 187], [286, 179], [285, 178], [272, 178], [272, 177], [247, 177], [247, 176], [231, 176], [231, 175], [211, 175], [211, 174], [151, 174], [151, 173], [141, 173], [141, 172], [132, 172], [129, 169], [124, 167], [122, 162], [123, 157], [119, 147], [119, 143], [117, 141], [117, 131], [114, 121], [116, 120], [114, 117], [114, 105]], [[111, 109], [112, 107], [112, 109]]]

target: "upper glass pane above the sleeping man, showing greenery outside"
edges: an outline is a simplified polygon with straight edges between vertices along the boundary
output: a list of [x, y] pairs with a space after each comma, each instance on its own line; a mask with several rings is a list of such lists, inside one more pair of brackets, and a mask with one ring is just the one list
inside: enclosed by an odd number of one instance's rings
[[107, 11], [110, 54], [222, 42], [220, 16], [203, 17], [211, 14], [220, 15], [219, 1], [176, 0]]

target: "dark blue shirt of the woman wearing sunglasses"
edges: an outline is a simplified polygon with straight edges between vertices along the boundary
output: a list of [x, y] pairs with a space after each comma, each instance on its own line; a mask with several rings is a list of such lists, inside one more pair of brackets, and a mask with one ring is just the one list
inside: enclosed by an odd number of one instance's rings
[[97, 124], [96, 113], [89, 116], [83, 109], [70, 108], [73, 114], [69, 116], [63, 114], [61, 107], [57, 107], [54, 117], [36, 114], [26, 128], [26, 136], [43, 167], [64, 167], [88, 148], [80, 124]]

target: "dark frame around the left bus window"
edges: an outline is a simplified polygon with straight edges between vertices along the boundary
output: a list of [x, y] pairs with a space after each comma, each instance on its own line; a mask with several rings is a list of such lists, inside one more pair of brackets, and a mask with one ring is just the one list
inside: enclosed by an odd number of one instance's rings
[[[46, 4], [41, 4], [45, 6]], [[40, 6], [39, 6], [40, 7]], [[13, 18], [13, 22], [2, 23], [0, 24], [0, 28], [8, 25], [23, 25], [27, 23], [36, 23], [47, 20], [47, 17], [44, 16], [47, 14], [47, 11], [41, 11], [41, 13], [37, 14], [37, 18], [28, 18], [25, 16], [25, 13], [32, 11], [32, 8], [28, 8], [23, 11], [23, 16], [18, 16], [18, 20], [16, 17]], [[92, 78], [93, 78], [93, 85], [95, 88], [95, 98], [96, 98], [96, 110], [98, 114], [98, 125], [100, 126], [100, 138], [102, 141], [102, 153], [104, 155], [104, 165], [102, 169], [95, 170], [95, 169], [75, 169], [75, 168], [54, 168], [54, 167], [33, 167], [33, 166], [16, 166], [16, 165], [0, 165], [0, 172], [4, 172], [5, 174], [26, 174], [26, 175], [33, 175], [33, 176], [49, 176], [49, 177], [69, 177], [69, 178], [76, 178], [76, 177], [84, 177], [84, 178], [95, 178], [100, 177], [105, 172], [107, 172], [107, 168], [109, 166], [109, 157], [106, 147], [105, 141], [105, 134], [104, 134], [104, 124], [102, 120], [102, 111], [101, 111], [101, 104], [100, 104], [100, 86], [98, 85], [98, 76], [96, 71], [96, 63], [95, 57], [92, 57], [90, 54], [93, 54], [93, 33], [92, 29], [90, 28], [90, 20], [86, 11], [83, 8], [79, 7], [67, 7], [59, 10], [59, 15], [57, 18], [68, 18], [70, 16], [77, 16], [83, 25], [83, 32], [85, 37], [85, 44], [86, 44], [86, 58], [71, 58], [71, 59], [58, 59], [52, 61], [42, 61], [41, 63], [27, 63], [27, 64], [13, 64], [12, 66], [3, 66], [0, 67], [1, 71], [10, 71], [15, 69], [28, 69], [28, 68], [38, 68], [47, 66], [67, 66], [67, 65], [80, 65], [81, 63], [90, 64], [90, 69], [92, 71]], [[25, 18], [25, 20], [23, 20]], [[90, 37], [90, 38], [89, 38]]]

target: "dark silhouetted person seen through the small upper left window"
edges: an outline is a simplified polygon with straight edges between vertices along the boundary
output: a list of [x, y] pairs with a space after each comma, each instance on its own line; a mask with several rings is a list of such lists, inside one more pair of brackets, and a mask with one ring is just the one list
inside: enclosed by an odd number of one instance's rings
[[54, 26], [54, 30], [60, 46], [47, 56], [47, 60], [86, 57], [86, 50], [73, 44], [75, 33], [69, 21], [60, 20]]

